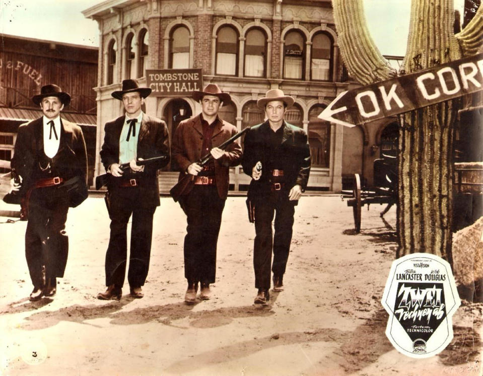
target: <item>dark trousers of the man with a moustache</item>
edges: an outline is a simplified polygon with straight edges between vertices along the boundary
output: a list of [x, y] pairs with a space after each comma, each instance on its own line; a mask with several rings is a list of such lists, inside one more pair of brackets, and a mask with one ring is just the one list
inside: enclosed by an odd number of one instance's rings
[[45, 285], [46, 278], [64, 275], [68, 254], [67, 211], [67, 198], [59, 195], [56, 187], [32, 191], [25, 232], [25, 258], [32, 284], [37, 288]]

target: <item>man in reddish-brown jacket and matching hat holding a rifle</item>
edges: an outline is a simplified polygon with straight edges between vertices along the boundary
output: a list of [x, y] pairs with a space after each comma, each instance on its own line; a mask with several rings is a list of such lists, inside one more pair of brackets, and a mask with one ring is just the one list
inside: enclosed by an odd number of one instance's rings
[[[192, 97], [201, 103], [201, 113], [183, 120], [173, 136], [173, 165], [180, 171], [179, 180], [186, 174], [192, 178], [179, 197], [187, 216], [184, 238], [184, 275], [188, 281], [187, 303], [196, 301], [198, 283], [200, 298], [210, 299], [210, 283], [215, 282], [218, 233], [228, 195], [229, 167], [236, 166], [242, 156], [238, 141], [222, 145], [237, 134], [236, 127], [218, 117], [218, 109], [231, 103], [228, 93], [218, 85], [209, 84]], [[213, 159], [203, 166], [197, 163], [205, 154]]]

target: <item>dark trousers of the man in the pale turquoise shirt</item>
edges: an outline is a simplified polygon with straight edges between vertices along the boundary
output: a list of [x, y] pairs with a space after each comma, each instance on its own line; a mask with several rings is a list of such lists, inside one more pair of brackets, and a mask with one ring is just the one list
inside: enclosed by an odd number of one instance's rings
[[122, 287], [124, 284], [127, 263], [127, 222], [131, 214], [127, 281], [132, 287], [143, 286], [146, 282], [156, 206], [144, 207], [141, 196], [138, 187], [125, 187], [108, 193], [111, 233], [106, 253], [106, 286], [115, 284]]

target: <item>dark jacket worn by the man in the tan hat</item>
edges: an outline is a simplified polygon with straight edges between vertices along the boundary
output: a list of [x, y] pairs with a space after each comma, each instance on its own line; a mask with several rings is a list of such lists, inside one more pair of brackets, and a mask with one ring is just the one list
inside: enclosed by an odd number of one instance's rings
[[[302, 192], [307, 187], [310, 173], [310, 147], [307, 135], [303, 129], [293, 126], [284, 121], [282, 137], [282, 148], [284, 158], [281, 161], [284, 178], [285, 189], [290, 191], [296, 184], [300, 184]], [[262, 164], [262, 174], [260, 179], [250, 182], [249, 197], [256, 199], [263, 198], [270, 192], [270, 171], [263, 168], [268, 160], [270, 124], [268, 120], [251, 127], [245, 134], [244, 152], [242, 159], [243, 171], [251, 176], [252, 169], [255, 164], [260, 161]]]

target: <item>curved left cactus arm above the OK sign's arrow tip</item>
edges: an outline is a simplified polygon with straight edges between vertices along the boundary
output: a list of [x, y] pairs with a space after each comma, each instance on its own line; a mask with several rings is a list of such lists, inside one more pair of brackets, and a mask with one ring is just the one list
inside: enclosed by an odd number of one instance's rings
[[338, 42], [349, 75], [363, 85], [396, 75], [372, 40], [362, 0], [332, 0]]

